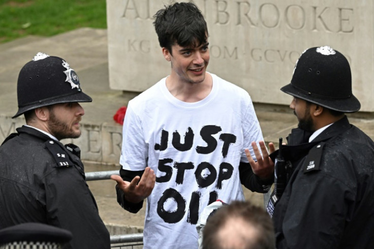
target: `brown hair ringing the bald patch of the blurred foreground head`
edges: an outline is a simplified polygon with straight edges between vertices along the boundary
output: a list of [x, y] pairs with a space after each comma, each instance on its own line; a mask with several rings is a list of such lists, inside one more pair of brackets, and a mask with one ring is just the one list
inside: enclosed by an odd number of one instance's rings
[[[241, 248], [247, 249], [274, 249], [275, 235], [274, 227], [269, 214], [261, 207], [255, 206], [248, 201], [233, 201], [230, 205], [222, 206], [209, 217], [203, 230], [203, 249], [223, 249], [220, 241], [228, 238], [217, 236], [228, 220], [240, 219], [258, 230], [255, 239], [250, 236], [241, 238], [245, 245]], [[245, 228], [243, 228], [245, 229]]]

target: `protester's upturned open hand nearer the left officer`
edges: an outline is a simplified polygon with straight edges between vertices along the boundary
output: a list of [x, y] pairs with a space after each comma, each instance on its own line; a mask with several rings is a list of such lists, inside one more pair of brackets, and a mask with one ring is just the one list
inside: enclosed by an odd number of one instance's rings
[[139, 203], [147, 198], [152, 193], [156, 181], [156, 175], [149, 167], [145, 168], [141, 178], [135, 176], [131, 182], [124, 181], [119, 175], [111, 175], [110, 178], [117, 182], [118, 188], [124, 193], [124, 198], [133, 203]]

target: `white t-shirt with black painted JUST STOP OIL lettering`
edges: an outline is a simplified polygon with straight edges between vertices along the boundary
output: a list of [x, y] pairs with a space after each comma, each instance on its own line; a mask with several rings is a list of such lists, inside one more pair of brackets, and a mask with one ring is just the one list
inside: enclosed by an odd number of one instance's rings
[[149, 166], [156, 174], [144, 248], [198, 248], [203, 208], [216, 199], [244, 199], [239, 162], [248, 162], [244, 148], [252, 150], [262, 132], [248, 93], [211, 76], [211, 92], [199, 102], [176, 99], [166, 78], [129, 102], [120, 164], [131, 171]]

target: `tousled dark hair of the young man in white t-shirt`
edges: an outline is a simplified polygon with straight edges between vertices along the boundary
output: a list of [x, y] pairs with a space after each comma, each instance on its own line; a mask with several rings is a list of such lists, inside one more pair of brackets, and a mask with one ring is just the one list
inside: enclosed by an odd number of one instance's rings
[[206, 43], [208, 28], [201, 11], [193, 3], [165, 6], [153, 17], [160, 46], [170, 53], [175, 43], [181, 47], [198, 47]]

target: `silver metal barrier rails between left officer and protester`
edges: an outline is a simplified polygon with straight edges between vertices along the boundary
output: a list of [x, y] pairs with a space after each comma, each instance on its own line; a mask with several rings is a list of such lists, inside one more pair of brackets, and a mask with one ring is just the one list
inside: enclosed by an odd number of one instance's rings
[[[119, 175], [119, 170], [86, 172], [86, 181], [108, 180], [111, 175]], [[143, 234], [123, 234], [110, 236], [111, 248], [128, 249], [143, 248]]]

